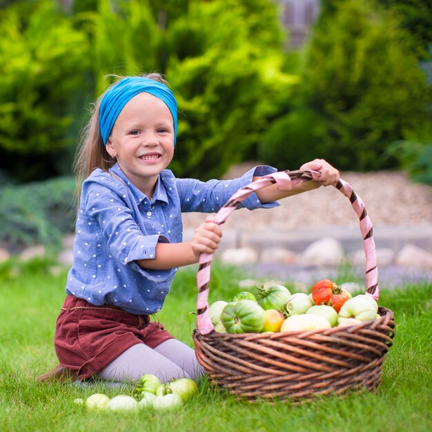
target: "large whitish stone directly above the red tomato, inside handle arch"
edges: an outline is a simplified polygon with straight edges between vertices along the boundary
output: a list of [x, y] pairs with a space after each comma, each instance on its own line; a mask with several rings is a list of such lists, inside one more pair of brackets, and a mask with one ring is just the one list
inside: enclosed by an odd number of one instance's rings
[[309, 244], [300, 258], [303, 265], [335, 266], [344, 260], [344, 249], [333, 237], [324, 237]]

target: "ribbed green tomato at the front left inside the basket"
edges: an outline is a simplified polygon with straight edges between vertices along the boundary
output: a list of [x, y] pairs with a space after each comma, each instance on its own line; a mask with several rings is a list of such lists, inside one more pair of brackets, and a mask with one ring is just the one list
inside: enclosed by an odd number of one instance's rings
[[253, 300], [239, 300], [224, 307], [221, 321], [228, 333], [259, 333], [266, 321], [266, 313]]

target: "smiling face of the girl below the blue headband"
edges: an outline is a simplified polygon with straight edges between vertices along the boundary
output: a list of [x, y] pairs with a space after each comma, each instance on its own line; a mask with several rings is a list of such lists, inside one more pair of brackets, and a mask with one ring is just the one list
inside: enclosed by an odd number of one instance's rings
[[115, 121], [106, 150], [150, 198], [159, 173], [174, 155], [174, 123], [168, 106], [150, 93], [132, 97]]

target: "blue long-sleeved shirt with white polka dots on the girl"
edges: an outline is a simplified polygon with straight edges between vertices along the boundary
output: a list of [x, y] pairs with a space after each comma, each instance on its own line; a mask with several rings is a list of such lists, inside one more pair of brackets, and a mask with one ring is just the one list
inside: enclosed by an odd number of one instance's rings
[[[135, 260], [154, 258], [158, 242], [182, 241], [182, 212], [215, 213], [254, 176], [275, 171], [257, 166], [239, 179], [203, 182], [176, 179], [164, 170], [148, 199], [117, 164], [108, 173], [94, 170], [82, 186], [66, 293], [97, 306], [108, 304], [142, 315], [157, 313], [177, 268], [148, 270]], [[277, 205], [261, 204], [255, 193], [242, 203], [250, 210]]]

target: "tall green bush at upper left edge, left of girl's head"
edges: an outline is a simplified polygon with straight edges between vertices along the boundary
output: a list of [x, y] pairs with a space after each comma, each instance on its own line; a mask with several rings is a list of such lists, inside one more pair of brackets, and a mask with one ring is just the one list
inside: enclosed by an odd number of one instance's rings
[[73, 104], [84, 104], [88, 41], [54, 4], [0, 9], [0, 157], [9, 175], [24, 181], [56, 174], [67, 156], [56, 152], [72, 142]]

